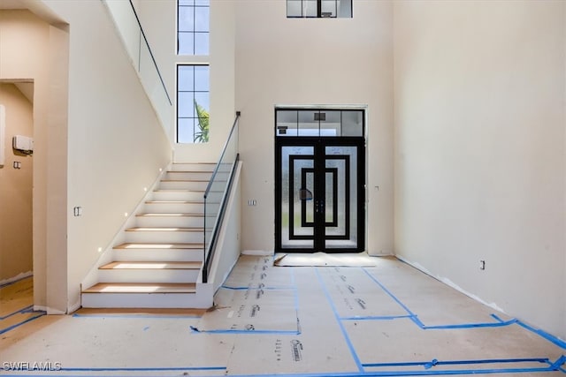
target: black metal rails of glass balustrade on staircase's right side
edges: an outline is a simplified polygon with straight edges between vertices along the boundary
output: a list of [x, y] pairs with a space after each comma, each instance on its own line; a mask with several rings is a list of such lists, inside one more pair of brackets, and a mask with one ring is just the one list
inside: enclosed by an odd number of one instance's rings
[[203, 283], [207, 283], [208, 282], [208, 276], [210, 274], [210, 260], [212, 260], [212, 258], [214, 257], [214, 253], [215, 253], [215, 246], [216, 246], [216, 241], [218, 238], [218, 230], [219, 230], [219, 226], [222, 223], [222, 220], [224, 218], [225, 215], [225, 209], [226, 209], [226, 201], [228, 199], [228, 194], [232, 188], [232, 183], [233, 183], [233, 175], [235, 172], [235, 168], [236, 165], [238, 163], [238, 161], [240, 160], [240, 154], [236, 153], [233, 165], [232, 165], [232, 170], [230, 170], [230, 176], [228, 177], [228, 180], [226, 182], [226, 188], [224, 190], [224, 193], [222, 195], [222, 200], [220, 200], [220, 207], [218, 209], [218, 215], [216, 218], [216, 221], [214, 222], [214, 227], [212, 228], [211, 231], [211, 236], [210, 236], [210, 244], [206, 245], [206, 200], [209, 197], [210, 194], [210, 190], [212, 188], [212, 184], [215, 181], [215, 178], [218, 174], [218, 170], [220, 168], [220, 166], [222, 165], [222, 162], [224, 161], [224, 156], [226, 155], [226, 149], [228, 147], [228, 145], [230, 144], [230, 141], [233, 137], [233, 132], [236, 129], [236, 125], [238, 124], [238, 120], [240, 119], [240, 115], [241, 112], [240, 111], [236, 111], [236, 117], [233, 120], [233, 124], [232, 124], [232, 128], [230, 129], [230, 132], [228, 133], [228, 137], [226, 138], [226, 143], [224, 144], [224, 147], [222, 148], [222, 152], [220, 153], [220, 157], [218, 158], [218, 162], [216, 164], [216, 167], [214, 168], [214, 170], [212, 171], [212, 175], [210, 176], [210, 180], [208, 185], [206, 186], [206, 190], [204, 191], [203, 197], [204, 197], [204, 229], [203, 229]]

